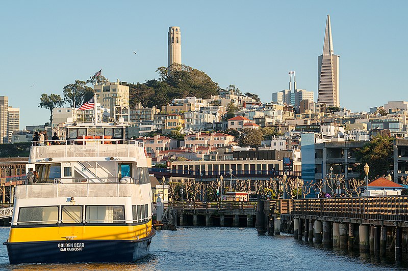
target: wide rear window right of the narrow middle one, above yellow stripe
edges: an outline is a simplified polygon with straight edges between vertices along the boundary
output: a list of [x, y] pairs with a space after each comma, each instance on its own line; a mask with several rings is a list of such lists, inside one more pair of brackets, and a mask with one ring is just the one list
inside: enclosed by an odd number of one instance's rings
[[86, 206], [87, 223], [124, 223], [124, 207], [108, 205]]

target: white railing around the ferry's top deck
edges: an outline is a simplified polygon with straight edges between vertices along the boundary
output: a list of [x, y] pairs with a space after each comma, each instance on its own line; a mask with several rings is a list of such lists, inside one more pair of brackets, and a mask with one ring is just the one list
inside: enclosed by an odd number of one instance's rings
[[[144, 144], [128, 139], [66, 139], [33, 141], [30, 160], [79, 157], [145, 158]], [[51, 160], [50, 160], [51, 161]]]

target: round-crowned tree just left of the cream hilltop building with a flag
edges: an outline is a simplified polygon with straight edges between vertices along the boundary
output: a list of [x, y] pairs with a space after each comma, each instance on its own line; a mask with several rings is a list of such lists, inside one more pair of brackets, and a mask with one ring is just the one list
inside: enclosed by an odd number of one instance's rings
[[70, 107], [79, 107], [93, 97], [93, 88], [85, 81], [75, 80], [75, 83], [64, 86], [62, 93]]

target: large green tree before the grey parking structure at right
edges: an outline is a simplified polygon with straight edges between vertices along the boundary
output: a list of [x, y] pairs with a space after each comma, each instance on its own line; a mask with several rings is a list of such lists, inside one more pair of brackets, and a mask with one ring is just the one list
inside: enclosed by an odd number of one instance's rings
[[370, 166], [369, 178], [387, 175], [392, 169], [393, 163], [393, 139], [388, 136], [377, 135], [371, 138], [357, 153], [356, 158], [360, 162], [358, 170], [361, 178], [365, 176], [363, 167], [367, 163]]

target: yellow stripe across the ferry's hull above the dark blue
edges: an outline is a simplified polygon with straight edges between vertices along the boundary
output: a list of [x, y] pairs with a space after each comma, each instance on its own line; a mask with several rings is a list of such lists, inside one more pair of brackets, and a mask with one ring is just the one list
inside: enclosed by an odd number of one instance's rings
[[137, 240], [151, 231], [151, 221], [136, 226], [64, 226], [11, 228], [9, 243], [60, 240]]

